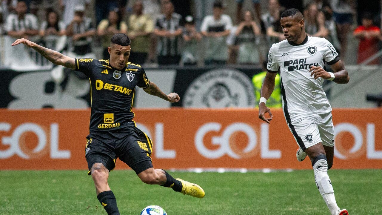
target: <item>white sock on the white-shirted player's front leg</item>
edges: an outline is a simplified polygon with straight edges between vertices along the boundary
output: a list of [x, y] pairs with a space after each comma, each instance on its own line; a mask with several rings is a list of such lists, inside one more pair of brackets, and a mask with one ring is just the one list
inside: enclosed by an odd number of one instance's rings
[[317, 188], [328, 206], [330, 213], [335, 215], [340, 208], [335, 201], [332, 182], [329, 179], [326, 156], [324, 157], [324, 155], [322, 155], [322, 157], [325, 159], [320, 159], [313, 165], [314, 178], [316, 179]]

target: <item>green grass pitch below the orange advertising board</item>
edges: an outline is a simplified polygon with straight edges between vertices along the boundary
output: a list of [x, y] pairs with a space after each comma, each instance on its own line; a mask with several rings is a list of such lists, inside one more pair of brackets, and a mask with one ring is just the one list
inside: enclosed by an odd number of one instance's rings
[[[106, 215], [87, 171], [0, 171], [1, 215]], [[110, 173], [121, 215], [159, 205], [169, 215], [329, 215], [312, 170], [248, 173], [170, 172], [206, 197], [147, 185], [133, 171]], [[329, 170], [337, 203], [350, 215], [382, 214], [382, 170]]]

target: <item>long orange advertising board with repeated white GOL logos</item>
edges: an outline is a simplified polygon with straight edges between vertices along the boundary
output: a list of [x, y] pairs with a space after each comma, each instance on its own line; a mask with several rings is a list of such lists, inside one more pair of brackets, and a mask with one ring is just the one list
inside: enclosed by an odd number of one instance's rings
[[[364, 117], [368, 112], [373, 117]], [[281, 109], [266, 124], [257, 109], [140, 109], [156, 168], [310, 169], [298, 162]], [[0, 110], [1, 169], [86, 169], [90, 110]], [[351, 116], [351, 117], [350, 117]], [[335, 109], [333, 168], [382, 168], [382, 109]], [[128, 169], [117, 160], [117, 169]]]

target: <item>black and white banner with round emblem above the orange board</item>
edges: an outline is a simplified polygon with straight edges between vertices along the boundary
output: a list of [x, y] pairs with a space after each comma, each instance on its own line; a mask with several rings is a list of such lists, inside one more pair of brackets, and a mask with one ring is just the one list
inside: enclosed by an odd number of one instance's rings
[[[171, 104], [137, 90], [135, 108], [250, 108], [257, 104], [252, 77], [261, 72], [259, 68], [168, 67], [145, 71], [164, 92], [176, 92], [182, 99]], [[27, 71], [0, 68], [0, 72], [0, 108], [76, 109], [91, 105], [89, 78], [81, 72], [62, 66]]]

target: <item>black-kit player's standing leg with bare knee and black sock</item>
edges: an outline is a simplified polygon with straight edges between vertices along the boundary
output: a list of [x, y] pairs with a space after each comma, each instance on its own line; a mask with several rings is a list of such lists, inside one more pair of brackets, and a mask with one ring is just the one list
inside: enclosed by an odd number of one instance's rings
[[108, 215], [120, 215], [117, 200], [107, 183], [109, 170], [102, 163], [95, 163], [91, 168], [92, 178], [97, 192], [97, 199]]

